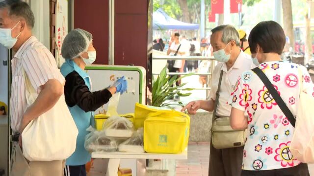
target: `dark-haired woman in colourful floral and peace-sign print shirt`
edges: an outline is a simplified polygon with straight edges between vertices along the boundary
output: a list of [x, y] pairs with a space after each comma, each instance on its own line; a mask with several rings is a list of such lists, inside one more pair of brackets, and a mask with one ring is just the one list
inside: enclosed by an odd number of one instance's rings
[[[280, 59], [286, 43], [282, 27], [273, 21], [260, 22], [252, 29], [249, 43], [253, 60], [261, 63], [259, 68], [295, 115], [300, 84], [312, 95], [314, 86], [304, 66]], [[298, 78], [298, 67], [302, 78]], [[294, 128], [262, 80], [248, 70], [236, 85], [230, 123], [233, 129], [247, 129], [242, 176], [309, 176], [307, 164], [293, 158], [289, 150]]]

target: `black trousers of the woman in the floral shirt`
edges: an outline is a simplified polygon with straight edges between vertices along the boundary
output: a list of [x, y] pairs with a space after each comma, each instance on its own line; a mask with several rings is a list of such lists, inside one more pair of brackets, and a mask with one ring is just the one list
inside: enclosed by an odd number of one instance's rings
[[242, 170], [241, 176], [310, 176], [308, 165], [301, 163], [297, 166], [274, 169], [267, 171], [246, 171]]

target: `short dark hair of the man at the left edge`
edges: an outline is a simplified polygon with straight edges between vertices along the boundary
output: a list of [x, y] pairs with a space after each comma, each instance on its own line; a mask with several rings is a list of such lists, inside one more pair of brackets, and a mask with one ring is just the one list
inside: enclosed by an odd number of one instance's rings
[[8, 8], [9, 16], [23, 17], [26, 20], [26, 24], [33, 28], [35, 25], [35, 17], [31, 8], [26, 2], [21, 0], [3, 0], [0, 2], [0, 9]]

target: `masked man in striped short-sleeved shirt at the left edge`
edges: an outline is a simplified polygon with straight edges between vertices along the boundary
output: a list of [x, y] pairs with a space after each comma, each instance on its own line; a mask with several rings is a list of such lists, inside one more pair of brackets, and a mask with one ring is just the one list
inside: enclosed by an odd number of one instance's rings
[[[21, 0], [0, 1], [0, 44], [16, 52], [12, 59], [12, 93], [10, 100], [13, 130], [11, 176], [62, 176], [64, 161], [27, 161], [18, 136], [27, 124], [51, 110], [63, 94], [65, 79], [58, 70], [52, 53], [32, 36], [34, 15]], [[23, 69], [39, 93], [26, 109], [26, 83]], [[47, 124], [47, 126], [50, 124]], [[18, 144], [19, 142], [19, 144]]]

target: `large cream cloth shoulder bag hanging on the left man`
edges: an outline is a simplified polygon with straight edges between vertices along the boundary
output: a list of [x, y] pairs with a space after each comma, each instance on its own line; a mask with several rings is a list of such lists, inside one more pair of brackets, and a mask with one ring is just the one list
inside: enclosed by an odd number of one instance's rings
[[[27, 108], [37, 99], [23, 69]], [[22, 132], [23, 155], [29, 161], [64, 160], [75, 152], [78, 128], [68, 109], [64, 94], [51, 110], [32, 120]]]

